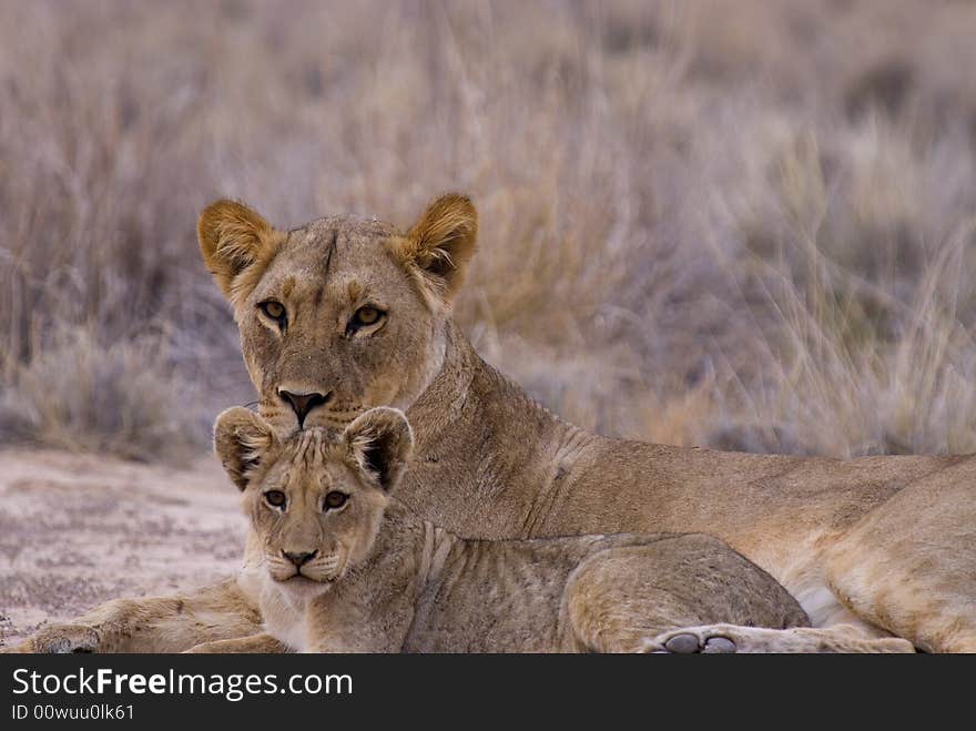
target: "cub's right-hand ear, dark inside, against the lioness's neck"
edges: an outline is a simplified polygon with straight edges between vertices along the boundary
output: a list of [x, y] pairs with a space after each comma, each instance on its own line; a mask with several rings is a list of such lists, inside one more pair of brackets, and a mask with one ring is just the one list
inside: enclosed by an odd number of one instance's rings
[[385, 406], [358, 416], [343, 433], [349, 454], [384, 490], [396, 487], [414, 449], [414, 432], [404, 413]]

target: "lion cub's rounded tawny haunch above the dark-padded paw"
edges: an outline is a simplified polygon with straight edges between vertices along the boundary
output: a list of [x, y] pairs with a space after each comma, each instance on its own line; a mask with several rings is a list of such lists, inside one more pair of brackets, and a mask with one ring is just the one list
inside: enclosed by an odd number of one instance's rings
[[561, 612], [565, 649], [590, 652], [653, 651], [657, 638], [708, 622], [777, 629], [810, 623], [773, 577], [699, 534], [591, 556], [567, 582]]

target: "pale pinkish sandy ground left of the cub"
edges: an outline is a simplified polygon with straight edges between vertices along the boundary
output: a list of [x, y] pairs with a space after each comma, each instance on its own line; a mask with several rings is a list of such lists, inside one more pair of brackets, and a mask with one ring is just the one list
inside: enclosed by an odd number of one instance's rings
[[0, 449], [0, 644], [108, 599], [232, 575], [237, 495], [214, 457], [174, 469]]

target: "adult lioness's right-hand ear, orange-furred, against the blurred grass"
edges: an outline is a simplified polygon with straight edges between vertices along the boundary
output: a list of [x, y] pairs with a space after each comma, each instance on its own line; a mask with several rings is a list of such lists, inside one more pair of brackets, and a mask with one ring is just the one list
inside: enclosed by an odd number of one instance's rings
[[[475, 255], [478, 212], [467, 195], [448, 193], [427, 206], [394, 253], [417, 276], [434, 306], [450, 302]], [[439, 301], [439, 302], [438, 302]]]

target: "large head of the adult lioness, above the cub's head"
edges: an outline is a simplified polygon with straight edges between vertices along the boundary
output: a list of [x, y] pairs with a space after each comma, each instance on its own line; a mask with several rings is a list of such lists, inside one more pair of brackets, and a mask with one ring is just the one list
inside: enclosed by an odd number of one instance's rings
[[284, 232], [241, 203], [209, 205], [200, 247], [234, 306], [261, 414], [289, 432], [407, 408], [440, 369], [477, 227], [461, 195], [435, 201], [406, 233], [353, 216]]

